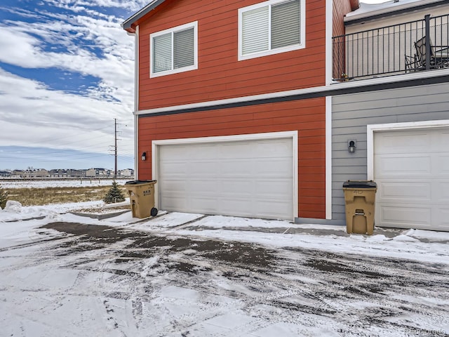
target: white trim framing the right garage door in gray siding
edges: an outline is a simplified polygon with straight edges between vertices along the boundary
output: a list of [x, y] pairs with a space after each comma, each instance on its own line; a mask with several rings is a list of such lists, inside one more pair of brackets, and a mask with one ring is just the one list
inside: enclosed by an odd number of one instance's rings
[[366, 159], [368, 180], [374, 179], [374, 133], [379, 131], [412, 130], [414, 128], [447, 128], [449, 119], [436, 121], [408, 121], [404, 123], [368, 124], [366, 126]]

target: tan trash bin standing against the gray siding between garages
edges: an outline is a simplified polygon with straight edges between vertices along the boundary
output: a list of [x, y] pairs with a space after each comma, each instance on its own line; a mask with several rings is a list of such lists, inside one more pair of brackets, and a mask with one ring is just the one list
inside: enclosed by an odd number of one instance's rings
[[377, 184], [373, 180], [348, 180], [343, 190], [347, 232], [373, 235]]

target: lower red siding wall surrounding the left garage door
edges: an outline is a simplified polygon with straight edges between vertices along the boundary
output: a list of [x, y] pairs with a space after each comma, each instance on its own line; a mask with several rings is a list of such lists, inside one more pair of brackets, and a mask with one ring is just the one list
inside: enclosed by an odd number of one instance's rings
[[[152, 140], [298, 131], [298, 201], [302, 218], [325, 218], [326, 99], [314, 98], [139, 119], [138, 154], [151, 158]], [[152, 178], [139, 160], [139, 179]]]

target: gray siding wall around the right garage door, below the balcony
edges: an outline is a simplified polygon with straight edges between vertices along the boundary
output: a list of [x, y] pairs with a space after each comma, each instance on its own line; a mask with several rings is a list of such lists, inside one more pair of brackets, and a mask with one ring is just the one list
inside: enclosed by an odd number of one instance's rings
[[366, 126], [449, 119], [449, 84], [334, 96], [332, 105], [332, 216], [344, 224], [343, 182], [367, 178]]

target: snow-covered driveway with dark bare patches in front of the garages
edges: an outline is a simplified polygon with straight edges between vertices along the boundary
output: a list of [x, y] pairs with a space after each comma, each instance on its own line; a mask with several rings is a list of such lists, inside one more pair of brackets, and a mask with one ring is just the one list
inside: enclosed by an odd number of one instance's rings
[[0, 211], [0, 336], [449, 336], [449, 233]]

